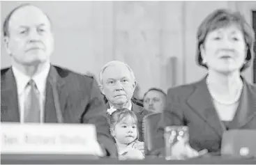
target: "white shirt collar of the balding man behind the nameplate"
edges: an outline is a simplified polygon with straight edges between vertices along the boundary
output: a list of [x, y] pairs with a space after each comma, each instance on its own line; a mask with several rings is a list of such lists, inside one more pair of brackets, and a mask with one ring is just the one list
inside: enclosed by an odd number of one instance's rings
[[[20, 72], [20, 70], [17, 70], [14, 66], [12, 66], [12, 69], [13, 69], [14, 77], [16, 79], [17, 93], [20, 95], [26, 88], [31, 77], [28, 77], [24, 73]], [[49, 72], [50, 72], [50, 63], [47, 63], [46, 67], [44, 68], [44, 70], [42, 70], [42, 72], [32, 77], [40, 93], [45, 92], [46, 80]]]

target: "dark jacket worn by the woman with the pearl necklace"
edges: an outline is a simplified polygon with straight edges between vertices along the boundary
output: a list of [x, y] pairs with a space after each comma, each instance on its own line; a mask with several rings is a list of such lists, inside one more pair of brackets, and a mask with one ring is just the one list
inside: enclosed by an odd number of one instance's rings
[[[211, 100], [206, 78], [168, 90], [167, 109], [162, 113], [158, 134], [154, 137], [155, 141], [161, 141], [159, 148], [164, 147], [163, 132], [167, 125], [188, 125], [190, 146], [195, 150], [206, 148], [209, 152], [220, 152], [225, 128]], [[229, 129], [256, 129], [256, 86], [245, 79], [239, 107]]]

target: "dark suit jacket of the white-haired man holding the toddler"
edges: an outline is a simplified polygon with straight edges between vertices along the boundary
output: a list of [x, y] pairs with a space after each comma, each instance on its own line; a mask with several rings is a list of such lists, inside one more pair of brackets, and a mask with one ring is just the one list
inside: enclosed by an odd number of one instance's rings
[[[107, 102], [107, 109], [110, 108], [110, 103]], [[142, 121], [144, 116], [146, 116], [147, 114], [151, 113], [150, 111], [147, 111], [146, 109], [134, 104], [132, 102], [132, 111], [135, 112], [136, 116], [137, 116], [137, 120], [138, 120], [138, 129], [139, 129], [139, 141], [144, 141], [144, 136], [143, 136], [143, 131], [142, 131]]]

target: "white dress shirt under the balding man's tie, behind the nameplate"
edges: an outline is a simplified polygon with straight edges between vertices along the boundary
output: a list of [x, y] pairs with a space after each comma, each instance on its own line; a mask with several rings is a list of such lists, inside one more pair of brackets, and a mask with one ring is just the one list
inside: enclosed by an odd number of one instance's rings
[[36, 87], [38, 88], [38, 97], [40, 102], [40, 123], [43, 123], [44, 119], [44, 108], [45, 108], [45, 89], [46, 89], [46, 81], [47, 76], [50, 71], [50, 63], [40, 72], [39, 74], [34, 75], [32, 78], [28, 77], [27, 75], [17, 70], [15, 67], [12, 66], [13, 74], [17, 84], [17, 96], [18, 96], [18, 103], [20, 109], [20, 123], [24, 123], [24, 105], [25, 105], [25, 98], [29, 95], [29, 88], [27, 84], [29, 83], [30, 79], [33, 79], [36, 83]]

